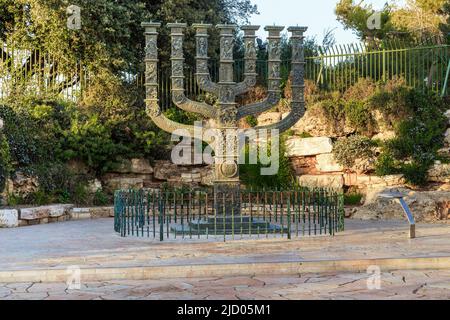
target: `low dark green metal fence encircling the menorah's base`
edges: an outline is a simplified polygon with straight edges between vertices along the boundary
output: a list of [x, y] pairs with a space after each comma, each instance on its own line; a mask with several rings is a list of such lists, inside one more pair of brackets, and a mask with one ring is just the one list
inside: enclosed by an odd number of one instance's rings
[[[218, 212], [225, 203], [240, 212]], [[160, 241], [291, 239], [344, 230], [343, 194], [328, 189], [242, 190], [239, 199], [207, 190], [128, 190], [115, 193], [114, 206], [114, 229], [122, 237]]]

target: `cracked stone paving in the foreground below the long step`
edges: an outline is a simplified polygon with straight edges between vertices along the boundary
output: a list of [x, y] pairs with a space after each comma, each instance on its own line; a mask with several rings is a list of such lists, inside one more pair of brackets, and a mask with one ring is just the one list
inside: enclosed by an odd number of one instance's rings
[[0, 300], [450, 299], [450, 270], [382, 273], [380, 289], [369, 289], [371, 277], [340, 273], [118, 280], [82, 283], [80, 290], [68, 290], [65, 283], [10, 283], [0, 284]]

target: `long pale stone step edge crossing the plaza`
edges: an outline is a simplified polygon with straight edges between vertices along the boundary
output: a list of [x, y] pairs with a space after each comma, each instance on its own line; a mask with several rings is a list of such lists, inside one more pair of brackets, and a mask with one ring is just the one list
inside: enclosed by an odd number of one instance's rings
[[[369, 266], [378, 266], [380, 267], [381, 272], [393, 270], [450, 269], [450, 256], [154, 267], [81, 268], [81, 281], [90, 282], [125, 279], [157, 280], [226, 276], [283, 276], [325, 272], [367, 272]], [[1, 271], [0, 283], [66, 282], [71, 275], [72, 272], [67, 269]]]

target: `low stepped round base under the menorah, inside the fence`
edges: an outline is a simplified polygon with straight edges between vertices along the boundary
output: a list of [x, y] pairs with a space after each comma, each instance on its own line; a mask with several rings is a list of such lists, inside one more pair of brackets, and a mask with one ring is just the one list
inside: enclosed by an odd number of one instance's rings
[[217, 216], [173, 224], [171, 231], [177, 235], [245, 235], [287, 233], [287, 227], [248, 216]]

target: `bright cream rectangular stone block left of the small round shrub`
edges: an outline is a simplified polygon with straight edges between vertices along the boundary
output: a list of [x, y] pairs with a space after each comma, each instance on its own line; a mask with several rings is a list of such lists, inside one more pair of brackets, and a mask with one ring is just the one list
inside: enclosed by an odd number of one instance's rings
[[314, 156], [333, 151], [333, 143], [330, 138], [300, 138], [290, 137], [286, 141], [288, 157]]

